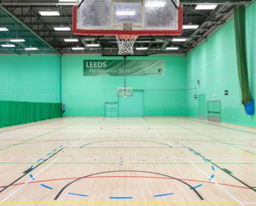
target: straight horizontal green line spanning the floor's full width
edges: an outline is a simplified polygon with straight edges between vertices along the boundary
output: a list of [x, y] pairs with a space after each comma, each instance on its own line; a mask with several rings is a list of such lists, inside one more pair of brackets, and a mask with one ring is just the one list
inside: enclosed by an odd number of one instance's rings
[[[256, 164], [256, 162], [193, 162], [193, 164]], [[0, 164], [39, 164], [38, 162], [0, 162]], [[42, 162], [40, 164], [51, 164]], [[120, 162], [53, 162], [52, 164], [121, 164]], [[127, 164], [192, 164], [190, 162], [124, 162]]]

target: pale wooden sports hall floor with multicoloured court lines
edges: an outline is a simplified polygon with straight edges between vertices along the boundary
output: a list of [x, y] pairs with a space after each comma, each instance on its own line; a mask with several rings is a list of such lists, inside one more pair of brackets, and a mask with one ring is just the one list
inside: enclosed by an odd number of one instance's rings
[[256, 205], [256, 130], [188, 117], [0, 129], [1, 205]]

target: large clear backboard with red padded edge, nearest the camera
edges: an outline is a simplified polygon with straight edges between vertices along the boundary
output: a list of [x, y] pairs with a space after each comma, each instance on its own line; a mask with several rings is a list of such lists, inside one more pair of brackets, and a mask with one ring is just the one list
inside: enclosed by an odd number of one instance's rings
[[[173, 0], [179, 6], [179, 0]], [[76, 35], [180, 35], [183, 8], [171, 0], [77, 0], [72, 31]]]

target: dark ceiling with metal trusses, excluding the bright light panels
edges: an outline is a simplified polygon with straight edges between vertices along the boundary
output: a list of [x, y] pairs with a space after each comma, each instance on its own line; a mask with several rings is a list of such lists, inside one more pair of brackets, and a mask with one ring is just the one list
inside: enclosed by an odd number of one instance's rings
[[[171, 1], [171, 0], [170, 0]], [[187, 55], [194, 47], [207, 41], [207, 38], [233, 16], [233, 5], [250, 4], [251, 1], [180, 1], [183, 5], [183, 24], [200, 25], [197, 29], [184, 29], [178, 38], [186, 42], [173, 42], [174, 36], [139, 37], [135, 47], [148, 47], [146, 50], [134, 50], [134, 55]], [[217, 4], [214, 10], [195, 10], [197, 4]], [[59, 25], [71, 26], [72, 6], [60, 4], [54, 0], [0, 0], [0, 27], [9, 31], [0, 31], [0, 43], [11, 38], [23, 38], [25, 42], [14, 43], [15, 48], [0, 48], [0, 55], [117, 55], [115, 38], [106, 36], [77, 36], [70, 31], [55, 31]], [[59, 11], [61, 16], [41, 16], [39, 11], [51, 8]], [[65, 42], [65, 38], [76, 37], [79, 42]], [[87, 43], [99, 43], [100, 47], [85, 47]], [[146, 41], [146, 42], [145, 42]], [[27, 51], [26, 47], [37, 47], [38, 50]], [[83, 46], [84, 50], [72, 50], [71, 47]], [[177, 50], [165, 50], [167, 46], [179, 47]]]

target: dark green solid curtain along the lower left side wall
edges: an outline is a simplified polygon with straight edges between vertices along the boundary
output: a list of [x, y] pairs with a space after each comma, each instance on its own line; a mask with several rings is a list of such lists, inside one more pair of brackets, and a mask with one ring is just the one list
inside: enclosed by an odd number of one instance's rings
[[0, 128], [62, 117], [62, 103], [0, 101]]

